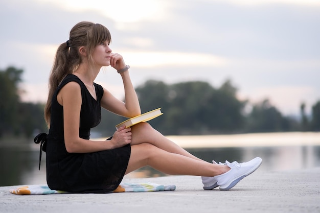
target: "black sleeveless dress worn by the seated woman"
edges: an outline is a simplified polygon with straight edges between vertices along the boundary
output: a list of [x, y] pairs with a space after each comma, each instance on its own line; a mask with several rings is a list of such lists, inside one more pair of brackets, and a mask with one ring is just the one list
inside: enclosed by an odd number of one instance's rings
[[[101, 121], [102, 86], [94, 84], [97, 94], [97, 100], [95, 100], [77, 76], [67, 75], [52, 99], [51, 123], [46, 145], [48, 186], [52, 190], [71, 193], [112, 192], [125, 174], [131, 147], [126, 145], [117, 149], [84, 154], [66, 151], [63, 137], [63, 107], [57, 101], [57, 94], [65, 84], [71, 81], [77, 82], [81, 87], [79, 136], [89, 139], [90, 128], [97, 126]], [[108, 140], [106, 143], [109, 143]]]

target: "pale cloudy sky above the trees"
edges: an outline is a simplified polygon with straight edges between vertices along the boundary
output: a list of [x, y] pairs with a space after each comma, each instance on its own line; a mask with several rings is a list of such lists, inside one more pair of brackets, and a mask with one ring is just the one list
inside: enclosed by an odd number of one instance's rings
[[[134, 86], [230, 79], [286, 115], [320, 100], [320, 0], [2, 0], [0, 68], [24, 69], [23, 100], [47, 99], [55, 51], [82, 20], [110, 30]], [[122, 98], [114, 69], [96, 82]]]

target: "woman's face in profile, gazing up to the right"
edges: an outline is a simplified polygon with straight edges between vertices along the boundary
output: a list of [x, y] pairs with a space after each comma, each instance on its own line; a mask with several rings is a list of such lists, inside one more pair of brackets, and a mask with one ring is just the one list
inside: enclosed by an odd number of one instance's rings
[[95, 64], [100, 66], [109, 66], [112, 50], [109, 48], [109, 41], [103, 41], [98, 44], [92, 54]]

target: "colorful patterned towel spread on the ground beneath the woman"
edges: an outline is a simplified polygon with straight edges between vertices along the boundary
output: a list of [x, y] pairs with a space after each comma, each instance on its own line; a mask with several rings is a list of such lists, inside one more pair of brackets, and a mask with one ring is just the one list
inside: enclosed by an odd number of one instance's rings
[[[175, 185], [159, 185], [156, 183], [121, 183], [113, 192], [158, 192], [158, 191], [174, 191]], [[68, 192], [51, 190], [48, 185], [28, 185], [18, 186], [10, 190], [15, 195], [50, 195], [65, 194]]]

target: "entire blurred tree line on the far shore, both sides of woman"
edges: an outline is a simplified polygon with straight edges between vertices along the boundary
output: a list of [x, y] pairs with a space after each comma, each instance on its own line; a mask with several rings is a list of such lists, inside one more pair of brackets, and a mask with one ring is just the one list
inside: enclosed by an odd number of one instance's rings
[[[0, 70], [0, 137], [6, 134], [31, 137], [34, 132], [48, 132], [43, 119], [44, 105], [19, 99], [22, 72], [15, 67]], [[166, 84], [149, 80], [136, 87], [136, 92], [142, 112], [162, 107], [164, 114], [149, 123], [165, 135], [320, 130], [320, 101], [312, 106], [310, 116], [302, 103], [300, 120], [284, 116], [268, 100], [252, 105], [248, 111], [249, 101], [237, 99], [237, 88], [230, 80], [219, 88], [203, 81]], [[102, 110], [102, 122], [93, 133], [112, 135], [115, 125], [124, 120]]]

